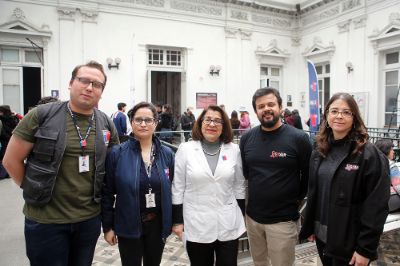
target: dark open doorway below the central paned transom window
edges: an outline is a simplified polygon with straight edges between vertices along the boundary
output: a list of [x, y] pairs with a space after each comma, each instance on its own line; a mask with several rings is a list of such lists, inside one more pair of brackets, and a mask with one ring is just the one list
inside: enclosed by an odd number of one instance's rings
[[152, 71], [151, 102], [170, 104], [174, 117], [179, 118], [181, 114], [181, 72]]

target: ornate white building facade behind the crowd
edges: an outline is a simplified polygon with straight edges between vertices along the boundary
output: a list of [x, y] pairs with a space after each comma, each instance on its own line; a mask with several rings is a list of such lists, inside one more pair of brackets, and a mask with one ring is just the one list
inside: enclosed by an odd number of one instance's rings
[[109, 114], [142, 100], [252, 114], [272, 86], [306, 120], [311, 60], [321, 106], [346, 91], [369, 127], [398, 127], [399, 54], [398, 0], [0, 0], [0, 104], [20, 113], [68, 99], [73, 67], [93, 59]]

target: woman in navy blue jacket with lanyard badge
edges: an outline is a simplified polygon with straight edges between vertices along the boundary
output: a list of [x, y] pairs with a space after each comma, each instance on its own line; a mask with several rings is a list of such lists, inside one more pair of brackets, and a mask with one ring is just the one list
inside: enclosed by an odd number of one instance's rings
[[104, 238], [118, 243], [123, 266], [140, 266], [142, 259], [158, 266], [172, 228], [174, 154], [153, 134], [158, 117], [151, 103], [138, 103], [129, 114], [133, 136], [107, 156]]

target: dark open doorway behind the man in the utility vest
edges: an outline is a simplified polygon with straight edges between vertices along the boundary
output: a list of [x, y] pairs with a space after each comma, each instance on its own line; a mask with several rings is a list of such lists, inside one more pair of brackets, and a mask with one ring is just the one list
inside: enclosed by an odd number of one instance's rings
[[42, 80], [40, 71], [40, 67], [23, 67], [24, 114], [29, 111], [29, 107], [36, 106], [41, 98]]

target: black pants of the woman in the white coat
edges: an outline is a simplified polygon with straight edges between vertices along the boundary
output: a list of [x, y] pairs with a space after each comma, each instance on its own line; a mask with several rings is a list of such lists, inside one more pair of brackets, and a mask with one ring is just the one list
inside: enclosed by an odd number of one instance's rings
[[206, 244], [190, 241], [186, 243], [191, 266], [213, 266], [214, 254], [216, 266], [236, 266], [238, 248], [238, 239], [231, 241], [217, 240]]

